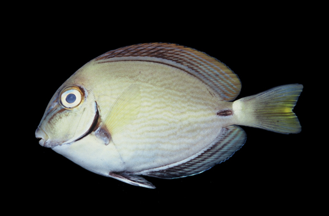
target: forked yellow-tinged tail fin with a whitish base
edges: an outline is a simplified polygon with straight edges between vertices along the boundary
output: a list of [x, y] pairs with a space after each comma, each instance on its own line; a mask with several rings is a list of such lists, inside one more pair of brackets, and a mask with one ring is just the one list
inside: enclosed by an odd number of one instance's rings
[[234, 101], [237, 123], [282, 134], [301, 132], [293, 109], [302, 89], [302, 84], [281, 85]]

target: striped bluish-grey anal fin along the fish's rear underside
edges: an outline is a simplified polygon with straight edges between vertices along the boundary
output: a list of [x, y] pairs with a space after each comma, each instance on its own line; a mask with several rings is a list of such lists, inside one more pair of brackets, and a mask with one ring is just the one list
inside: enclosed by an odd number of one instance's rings
[[199, 174], [218, 163], [229, 159], [246, 142], [247, 136], [244, 130], [236, 125], [224, 127], [213, 144], [198, 154], [184, 161], [170, 164], [168, 167], [158, 167], [145, 170], [140, 174], [163, 179], [182, 178]]

